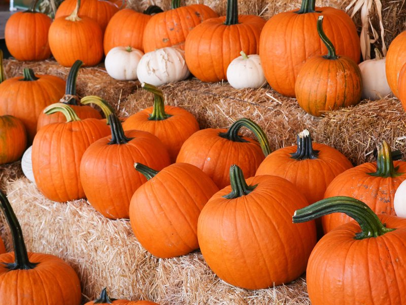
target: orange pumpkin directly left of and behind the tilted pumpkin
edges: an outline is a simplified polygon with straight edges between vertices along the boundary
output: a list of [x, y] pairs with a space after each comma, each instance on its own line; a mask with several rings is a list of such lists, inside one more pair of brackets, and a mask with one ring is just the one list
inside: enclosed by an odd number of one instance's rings
[[134, 192], [147, 179], [134, 170], [136, 162], [161, 170], [171, 164], [166, 148], [154, 135], [140, 130], [124, 133], [120, 120], [109, 116], [111, 137], [89, 146], [80, 164], [80, 179], [90, 204], [105, 217], [129, 218]]

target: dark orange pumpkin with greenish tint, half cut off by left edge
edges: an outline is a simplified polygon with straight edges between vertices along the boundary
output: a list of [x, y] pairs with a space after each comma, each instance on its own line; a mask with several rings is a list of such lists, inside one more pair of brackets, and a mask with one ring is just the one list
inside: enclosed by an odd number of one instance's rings
[[[11, 115], [0, 116], [0, 164], [20, 159], [25, 147], [27, 147], [27, 134], [22, 122]], [[0, 253], [3, 253], [1, 246], [0, 243]]]

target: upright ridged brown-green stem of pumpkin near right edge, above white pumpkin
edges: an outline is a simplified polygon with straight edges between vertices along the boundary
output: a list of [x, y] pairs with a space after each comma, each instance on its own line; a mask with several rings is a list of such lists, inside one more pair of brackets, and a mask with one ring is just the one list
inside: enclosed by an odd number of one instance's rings
[[[377, 149], [377, 171], [375, 173], [368, 173], [368, 175], [384, 178], [393, 178], [402, 175], [403, 173], [397, 171], [399, 167], [393, 166], [392, 151], [389, 144], [386, 141], [383, 141], [377, 146]], [[397, 154], [395, 155], [395, 158], [397, 158]]]

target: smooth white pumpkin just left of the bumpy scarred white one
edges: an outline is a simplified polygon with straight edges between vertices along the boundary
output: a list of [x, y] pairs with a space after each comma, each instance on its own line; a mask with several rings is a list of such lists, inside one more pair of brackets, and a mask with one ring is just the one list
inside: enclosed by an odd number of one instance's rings
[[106, 55], [107, 73], [118, 80], [136, 80], [137, 67], [143, 55], [143, 51], [131, 47], [115, 47]]

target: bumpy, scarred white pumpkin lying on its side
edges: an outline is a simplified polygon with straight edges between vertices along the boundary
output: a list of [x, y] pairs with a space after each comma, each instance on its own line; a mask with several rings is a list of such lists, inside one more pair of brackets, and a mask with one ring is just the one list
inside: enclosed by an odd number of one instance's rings
[[180, 81], [190, 75], [185, 52], [178, 48], [162, 48], [145, 53], [137, 68], [138, 79], [154, 86]]

